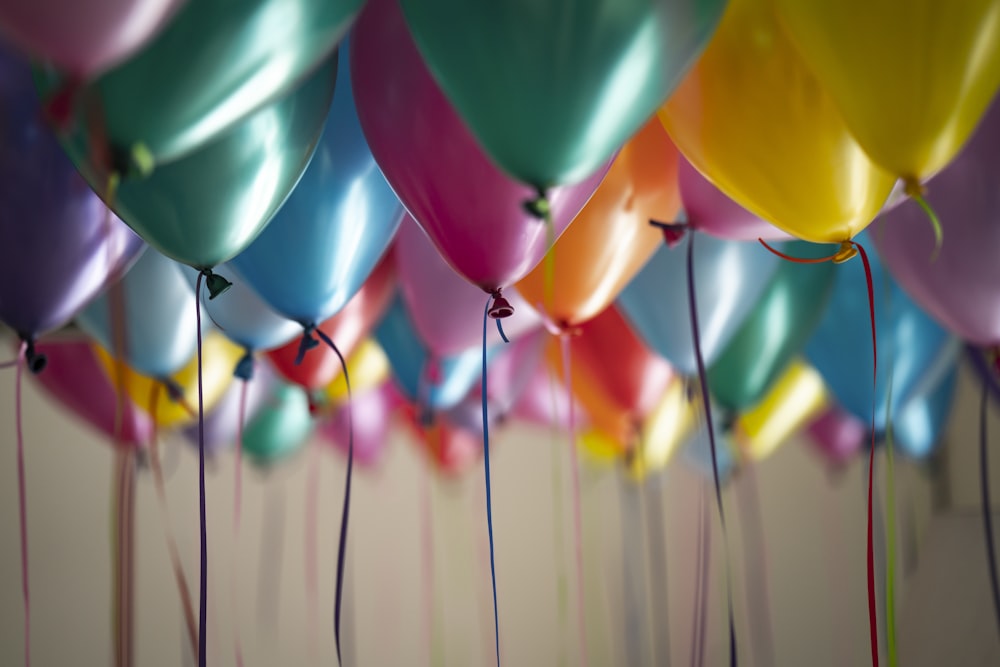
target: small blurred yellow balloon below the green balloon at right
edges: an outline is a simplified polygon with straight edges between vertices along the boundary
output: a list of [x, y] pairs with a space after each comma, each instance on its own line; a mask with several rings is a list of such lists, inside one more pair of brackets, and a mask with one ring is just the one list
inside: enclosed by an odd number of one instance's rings
[[826, 407], [823, 378], [814, 368], [795, 361], [733, 429], [742, 454], [755, 461], [770, 456]]

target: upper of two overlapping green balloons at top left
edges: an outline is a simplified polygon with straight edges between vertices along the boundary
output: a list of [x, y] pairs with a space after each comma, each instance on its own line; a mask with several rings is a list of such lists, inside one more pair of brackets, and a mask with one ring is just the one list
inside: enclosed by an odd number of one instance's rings
[[[333, 52], [362, 1], [184, 3], [142, 51], [62, 102], [74, 126], [67, 150], [84, 171], [112, 167], [126, 175], [184, 157], [299, 87]], [[89, 12], [93, 3], [86, 4]], [[52, 72], [39, 79], [42, 96], [55, 94], [55, 102], [72, 88]], [[103, 142], [91, 143], [95, 123]], [[262, 172], [261, 187], [275, 178], [273, 171]]]

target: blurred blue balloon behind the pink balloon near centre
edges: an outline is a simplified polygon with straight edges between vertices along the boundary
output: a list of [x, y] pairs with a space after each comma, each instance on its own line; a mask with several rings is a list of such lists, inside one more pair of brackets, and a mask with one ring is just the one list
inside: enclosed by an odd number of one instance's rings
[[[457, 355], [432, 361], [420, 341], [406, 306], [396, 296], [375, 329], [375, 340], [385, 350], [393, 376], [406, 397], [435, 410], [454, 407], [482, 377], [483, 351], [470, 348]], [[486, 350], [487, 363], [499, 353], [498, 346]]]

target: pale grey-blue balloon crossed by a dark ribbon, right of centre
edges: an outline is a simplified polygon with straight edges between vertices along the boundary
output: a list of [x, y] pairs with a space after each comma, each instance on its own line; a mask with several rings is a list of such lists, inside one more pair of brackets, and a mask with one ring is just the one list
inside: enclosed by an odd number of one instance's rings
[[[753, 310], [778, 266], [757, 243], [695, 234], [694, 283], [701, 352], [710, 365]], [[698, 366], [691, 338], [687, 248], [664, 246], [622, 291], [618, 305], [643, 341], [692, 375]]]

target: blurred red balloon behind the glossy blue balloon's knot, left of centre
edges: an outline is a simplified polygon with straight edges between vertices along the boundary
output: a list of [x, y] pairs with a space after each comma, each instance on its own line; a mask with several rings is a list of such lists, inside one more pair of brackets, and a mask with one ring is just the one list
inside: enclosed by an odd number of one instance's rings
[[[347, 306], [317, 327], [337, 344], [347, 359], [382, 318], [396, 293], [396, 273], [391, 256], [375, 267], [368, 281]], [[322, 390], [340, 374], [340, 360], [326, 345], [309, 351], [299, 361], [300, 341], [271, 350], [267, 358], [289, 382], [309, 391]]]

